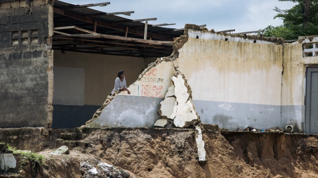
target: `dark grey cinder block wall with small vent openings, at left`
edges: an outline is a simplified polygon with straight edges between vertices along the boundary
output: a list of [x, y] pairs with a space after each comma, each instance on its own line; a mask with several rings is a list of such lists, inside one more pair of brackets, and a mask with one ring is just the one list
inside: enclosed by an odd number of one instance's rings
[[0, 127], [51, 126], [53, 6], [0, 3]]

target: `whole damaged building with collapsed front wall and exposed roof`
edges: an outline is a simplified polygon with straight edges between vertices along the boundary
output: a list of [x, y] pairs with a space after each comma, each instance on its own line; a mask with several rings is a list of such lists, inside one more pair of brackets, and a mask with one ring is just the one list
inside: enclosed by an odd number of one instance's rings
[[[0, 127], [73, 128], [91, 118], [86, 126], [153, 127], [161, 119], [318, 133], [316, 36], [285, 43], [163, 28], [89, 4], [0, 2]], [[108, 96], [120, 69], [131, 95]]]

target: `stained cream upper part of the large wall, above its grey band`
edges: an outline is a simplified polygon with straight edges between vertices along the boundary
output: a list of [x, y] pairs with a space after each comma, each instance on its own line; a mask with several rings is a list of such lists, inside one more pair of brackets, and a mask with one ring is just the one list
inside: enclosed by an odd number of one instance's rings
[[281, 45], [195, 30], [188, 35], [178, 64], [193, 100], [281, 104]]

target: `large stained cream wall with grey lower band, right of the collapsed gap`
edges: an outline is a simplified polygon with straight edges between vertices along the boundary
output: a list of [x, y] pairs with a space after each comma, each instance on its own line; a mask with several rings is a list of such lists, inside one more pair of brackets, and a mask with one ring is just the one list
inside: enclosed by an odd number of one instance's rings
[[177, 63], [203, 123], [281, 126], [282, 45], [188, 30]]

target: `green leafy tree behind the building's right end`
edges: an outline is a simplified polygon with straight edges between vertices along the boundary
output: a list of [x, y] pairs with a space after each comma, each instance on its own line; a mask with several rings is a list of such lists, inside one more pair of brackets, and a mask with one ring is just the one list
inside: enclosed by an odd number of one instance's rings
[[285, 40], [297, 39], [298, 36], [318, 35], [318, 0], [279, 0], [296, 3], [290, 9], [275, 7], [275, 18], [283, 20], [283, 25], [264, 29], [265, 37], [284, 38]]

